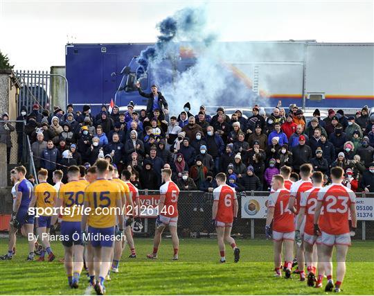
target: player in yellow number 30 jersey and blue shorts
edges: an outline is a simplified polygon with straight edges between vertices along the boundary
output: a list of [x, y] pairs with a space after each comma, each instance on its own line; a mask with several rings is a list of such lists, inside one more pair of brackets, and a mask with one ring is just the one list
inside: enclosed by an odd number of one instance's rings
[[[64, 237], [62, 240], [65, 251], [64, 265], [71, 288], [78, 288], [80, 272], [83, 267], [84, 247], [80, 224], [82, 222], [84, 189], [87, 184], [79, 180], [79, 175], [80, 168], [78, 166], [69, 166], [67, 170], [69, 183], [61, 187], [57, 200], [57, 208], [62, 209], [61, 234]], [[55, 225], [58, 214], [60, 213], [53, 216], [52, 225]]]

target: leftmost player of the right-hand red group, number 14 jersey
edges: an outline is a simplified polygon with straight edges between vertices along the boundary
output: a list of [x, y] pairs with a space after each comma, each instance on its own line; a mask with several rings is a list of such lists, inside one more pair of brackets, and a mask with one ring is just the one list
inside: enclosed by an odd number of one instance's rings
[[[281, 175], [274, 175], [271, 188], [274, 192], [267, 200], [267, 218], [265, 234], [271, 237], [270, 224], [273, 221], [275, 276], [281, 277], [282, 246], [285, 245], [285, 277], [291, 277], [292, 255], [294, 251], [295, 225], [294, 214], [288, 209], [290, 191], [285, 189]], [[274, 219], [274, 220], [273, 220]]]

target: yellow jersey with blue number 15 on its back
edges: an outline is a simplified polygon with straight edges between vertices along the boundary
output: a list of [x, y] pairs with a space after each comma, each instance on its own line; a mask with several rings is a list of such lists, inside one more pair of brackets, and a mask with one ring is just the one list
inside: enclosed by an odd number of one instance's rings
[[116, 182], [98, 179], [89, 184], [84, 193], [84, 201], [91, 208], [88, 225], [95, 228], [114, 227], [118, 200], [121, 202], [121, 188]]

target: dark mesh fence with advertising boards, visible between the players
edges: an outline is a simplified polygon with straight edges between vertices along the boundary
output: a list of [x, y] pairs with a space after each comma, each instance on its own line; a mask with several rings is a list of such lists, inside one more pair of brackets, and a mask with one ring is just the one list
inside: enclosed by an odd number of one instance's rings
[[[141, 204], [147, 207], [157, 207], [159, 191], [141, 190]], [[373, 193], [356, 193], [357, 200], [367, 200], [374, 204]], [[265, 237], [266, 200], [268, 191], [243, 191], [238, 193], [238, 218], [233, 224], [232, 233], [236, 236], [249, 238]], [[203, 191], [181, 191], [178, 198], [178, 233], [185, 237], [214, 236], [215, 229], [211, 225], [213, 193]], [[364, 207], [364, 209], [362, 209]], [[144, 208], [144, 211], [148, 209]], [[152, 213], [152, 211], [150, 211]], [[357, 237], [362, 240], [374, 238], [373, 206], [357, 203], [357, 212], [366, 213], [358, 217]], [[145, 214], [146, 216], [146, 214]], [[154, 216], [145, 218], [143, 234], [152, 235], [154, 232]]]

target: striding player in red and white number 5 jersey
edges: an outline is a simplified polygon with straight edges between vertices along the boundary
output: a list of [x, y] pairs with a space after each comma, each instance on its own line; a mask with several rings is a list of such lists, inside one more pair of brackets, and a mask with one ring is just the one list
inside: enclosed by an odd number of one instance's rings
[[172, 260], [178, 260], [179, 238], [177, 234], [178, 222], [178, 196], [179, 188], [171, 180], [172, 171], [170, 168], [164, 168], [161, 171], [163, 184], [160, 187], [159, 215], [156, 219], [156, 229], [154, 231], [153, 252], [148, 254], [148, 259], [157, 259], [157, 251], [161, 243], [163, 229], [168, 225], [172, 236], [172, 246], [174, 247], [174, 256]]

